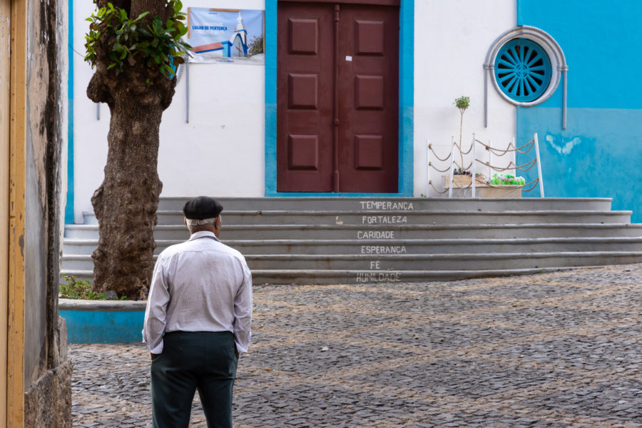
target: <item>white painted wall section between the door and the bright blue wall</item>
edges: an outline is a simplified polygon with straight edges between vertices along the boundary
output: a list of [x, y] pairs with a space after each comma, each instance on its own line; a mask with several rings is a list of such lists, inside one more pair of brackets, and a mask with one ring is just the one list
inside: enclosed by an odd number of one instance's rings
[[[438, 196], [427, 193], [426, 141], [439, 158], [449, 155], [451, 136], [459, 139], [455, 98], [470, 98], [471, 106], [464, 113], [465, 149], [472, 133], [502, 149], [515, 136], [516, 108], [501, 99], [490, 79], [489, 127], [484, 128], [483, 66], [493, 41], [515, 26], [516, 2], [417, 0], [414, 7], [414, 195]], [[485, 156], [484, 151], [477, 158], [486, 161]], [[506, 157], [504, 162], [509, 160]], [[464, 158], [466, 165], [471, 161], [471, 157]], [[434, 158], [433, 163], [444, 169]], [[486, 167], [479, 172], [486, 173]], [[435, 187], [442, 188], [442, 173], [432, 169], [430, 178]]]

